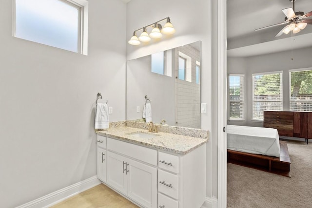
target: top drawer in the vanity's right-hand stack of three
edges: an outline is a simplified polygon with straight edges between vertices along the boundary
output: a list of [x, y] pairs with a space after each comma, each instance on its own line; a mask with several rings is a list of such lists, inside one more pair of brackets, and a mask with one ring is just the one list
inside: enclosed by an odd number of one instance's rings
[[158, 153], [158, 167], [179, 173], [179, 157], [164, 152]]

